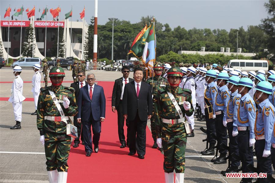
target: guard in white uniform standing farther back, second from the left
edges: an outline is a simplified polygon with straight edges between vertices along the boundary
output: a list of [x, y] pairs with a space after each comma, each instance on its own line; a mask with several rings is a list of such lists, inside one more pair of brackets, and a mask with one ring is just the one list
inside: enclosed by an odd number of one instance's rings
[[40, 64], [35, 64], [33, 66], [33, 71], [35, 71], [35, 74], [32, 76], [32, 93], [34, 98], [34, 106], [35, 106], [35, 112], [33, 112], [31, 115], [37, 115], [37, 102], [38, 102], [38, 96], [40, 93], [40, 82], [41, 82], [41, 75], [40, 75]]

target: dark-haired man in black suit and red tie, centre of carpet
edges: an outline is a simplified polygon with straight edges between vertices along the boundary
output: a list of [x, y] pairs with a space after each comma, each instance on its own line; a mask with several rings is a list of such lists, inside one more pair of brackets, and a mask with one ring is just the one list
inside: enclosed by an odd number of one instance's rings
[[152, 116], [153, 103], [151, 87], [143, 79], [143, 69], [134, 70], [134, 81], [124, 87], [122, 105], [123, 116], [129, 120], [130, 144], [129, 154], [136, 152], [140, 159], [144, 159], [146, 145], [147, 119]]

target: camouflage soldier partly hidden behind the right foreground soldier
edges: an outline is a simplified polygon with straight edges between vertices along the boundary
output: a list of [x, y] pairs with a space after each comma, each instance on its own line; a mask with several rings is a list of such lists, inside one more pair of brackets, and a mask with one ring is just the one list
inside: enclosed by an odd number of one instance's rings
[[[146, 83], [148, 83], [151, 88], [152, 88], [152, 95], [153, 95], [153, 101], [154, 101], [154, 97], [156, 96], [156, 94], [158, 93], [158, 90], [161, 88], [165, 88], [166, 85], [169, 85], [168, 81], [166, 78], [161, 77], [162, 74], [162, 64], [157, 63], [154, 65], [154, 77], [151, 77], [149, 79], [147, 79]], [[152, 133], [152, 137], [154, 139], [154, 145], [152, 146], [152, 148], [157, 148], [157, 138], [156, 138], [156, 129], [155, 129], [155, 118], [154, 118], [154, 102], [153, 102], [153, 115], [151, 117], [151, 133]]]

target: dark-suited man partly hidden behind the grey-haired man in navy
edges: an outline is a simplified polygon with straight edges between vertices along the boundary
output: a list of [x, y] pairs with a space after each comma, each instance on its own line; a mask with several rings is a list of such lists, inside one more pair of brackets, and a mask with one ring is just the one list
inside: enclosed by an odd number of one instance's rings
[[[87, 85], [87, 81], [85, 81], [85, 78], [86, 78], [85, 71], [78, 71], [76, 77], [77, 77], [78, 81], [77, 82], [73, 82], [71, 84], [71, 87], [73, 87], [75, 89], [74, 93], [76, 95], [76, 102], [77, 102], [77, 97], [78, 97], [78, 94], [79, 94], [79, 90], [83, 86]], [[80, 139], [82, 141], [82, 144], [84, 144], [82, 125], [81, 125], [81, 123], [77, 123], [76, 119], [77, 119], [77, 117], [75, 115], [73, 117], [73, 125], [77, 127], [77, 134], [79, 134], [79, 135], [73, 141], [74, 145], [72, 147], [74, 147], [74, 148], [77, 148], [79, 146], [79, 143], [80, 143], [79, 136], [80, 136]]]

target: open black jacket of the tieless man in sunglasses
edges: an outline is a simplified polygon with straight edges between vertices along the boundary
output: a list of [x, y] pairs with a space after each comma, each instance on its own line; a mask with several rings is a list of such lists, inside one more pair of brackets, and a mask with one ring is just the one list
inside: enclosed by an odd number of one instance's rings
[[[120, 97], [121, 97], [122, 86], [123, 86], [122, 79], [123, 77], [116, 79], [113, 85], [112, 106], [115, 106], [116, 108], [119, 104]], [[128, 78], [128, 79], [129, 79], [129, 82], [134, 81], [134, 79], [132, 78]]]

